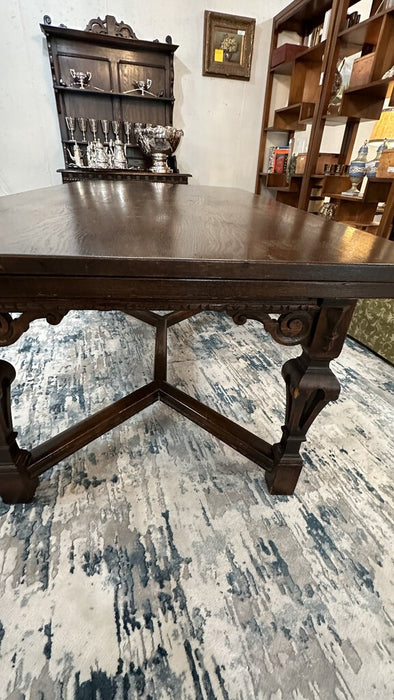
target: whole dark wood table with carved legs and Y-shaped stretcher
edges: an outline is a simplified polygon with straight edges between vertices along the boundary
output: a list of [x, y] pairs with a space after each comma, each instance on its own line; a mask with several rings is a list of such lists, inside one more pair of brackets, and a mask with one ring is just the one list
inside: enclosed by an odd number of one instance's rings
[[[34, 319], [57, 324], [72, 309], [121, 310], [156, 329], [150, 383], [31, 451], [13, 428], [14, 368], [0, 360], [0, 496], [32, 500], [40, 474], [157, 400], [265, 469], [271, 493], [293, 493], [307, 430], [339, 395], [329, 363], [356, 300], [393, 291], [392, 242], [267, 196], [93, 181], [0, 198], [0, 345]], [[301, 346], [282, 369], [278, 443], [167, 381], [167, 329], [206, 309], [238, 324], [256, 319], [278, 343]]]

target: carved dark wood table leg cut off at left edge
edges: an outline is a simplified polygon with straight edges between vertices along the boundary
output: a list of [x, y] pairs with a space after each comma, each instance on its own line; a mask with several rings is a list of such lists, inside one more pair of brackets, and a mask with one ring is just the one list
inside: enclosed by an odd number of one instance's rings
[[30, 452], [22, 450], [12, 427], [11, 384], [15, 370], [0, 360], [0, 496], [4, 503], [28, 503], [33, 497], [38, 478], [26, 468]]

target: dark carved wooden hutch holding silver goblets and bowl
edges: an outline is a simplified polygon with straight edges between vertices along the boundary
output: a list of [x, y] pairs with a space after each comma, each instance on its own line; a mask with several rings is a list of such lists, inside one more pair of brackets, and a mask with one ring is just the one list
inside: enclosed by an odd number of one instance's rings
[[[151, 161], [137, 146], [133, 133], [126, 148], [127, 169], [77, 168], [69, 151], [74, 141], [66, 125], [66, 116], [93, 118], [98, 123], [98, 138], [104, 140], [101, 120], [120, 122], [120, 137], [126, 141], [124, 122], [153, 125], [173, 124], [174, 52], [178, 48], [167, 37], [166, 43], [143, 41], [135, 37], [129, 25], [116, 22], [107, 15], [105, 20], [91, 20], [85, 31], [41, 24], [46, 36], [53, 89], [59, 118], [64, 153], [64, 168], [59, 169], [63, 182], [86, 179], [153, 180], [187, 184], [188, 174], [180, 173], [176, 156], [169, 157], [173, 173], [149, 172]], [[86, 87], [73, 85], [70, 70], [91, 73]], [[149, 92], [134, 89], [137, 81], [149, 78]], [[85, 156], [93, 134], [87, 128], [86, 138], [76, 125], [76, 141]], [[112, 131], [110, 135], [114, 138]]]

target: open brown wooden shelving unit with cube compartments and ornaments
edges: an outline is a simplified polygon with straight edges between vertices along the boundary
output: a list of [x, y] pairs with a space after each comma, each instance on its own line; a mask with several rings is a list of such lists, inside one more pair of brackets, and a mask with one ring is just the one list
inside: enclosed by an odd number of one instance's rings
[[[256, 192], [270, 189], [279, 201], [308, 210], [314, 199], [330, 198], [335, 203], [334, 219], [366, 228], [379, 236], [392, 235], [394, 187], [390, 178], [368, 180], [363, 195], [341, 193], [350, 187], [348, 177], [323, 175], [317, 167], [324, 129], [344, 125], [336, 162], [351, 160], [360, 122], [380, 117], [391, 79], [383, 74], [394, 65], [394, 7], [379, 9], [381, 0], [371, 0], [369, 17], [348, 26], [348, 15], [357, 0], [295, 0], [273, 19], [266, 98], [258, 157]], [[379, 11], [378, 11], [379, 10]], [[313, 46], [302, 46], [305, 37], [325, 26], [325, 36]], [[285, 46], [283, 37], [296, 35], [298, 48]], [[295, 41], [293, 40], [295, 45]], [[343, 93], [340, 108], [328, 114], [336, 69], [341, 59], [369, 56], [369, 74], [357, 87]], [[278, 62], [278, 57], [281, 59]], [[287, 104], [275, 104], [275, 81], [288, 76]], [[269, 139], [277, 135], [290, 141], [310, 124], [309, 144], [302, 174], [278, 175], [267, 172]], [[370, 157], [374, 153], [369, 154]], [[380, 223], [374, 224], [378, 205], [385, 202]]]

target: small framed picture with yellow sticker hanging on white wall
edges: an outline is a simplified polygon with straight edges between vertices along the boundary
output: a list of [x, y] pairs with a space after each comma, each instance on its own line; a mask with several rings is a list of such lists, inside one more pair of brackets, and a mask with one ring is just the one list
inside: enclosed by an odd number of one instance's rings
[[205, 10], [203, 75], [250, 79], [256, 20]]

